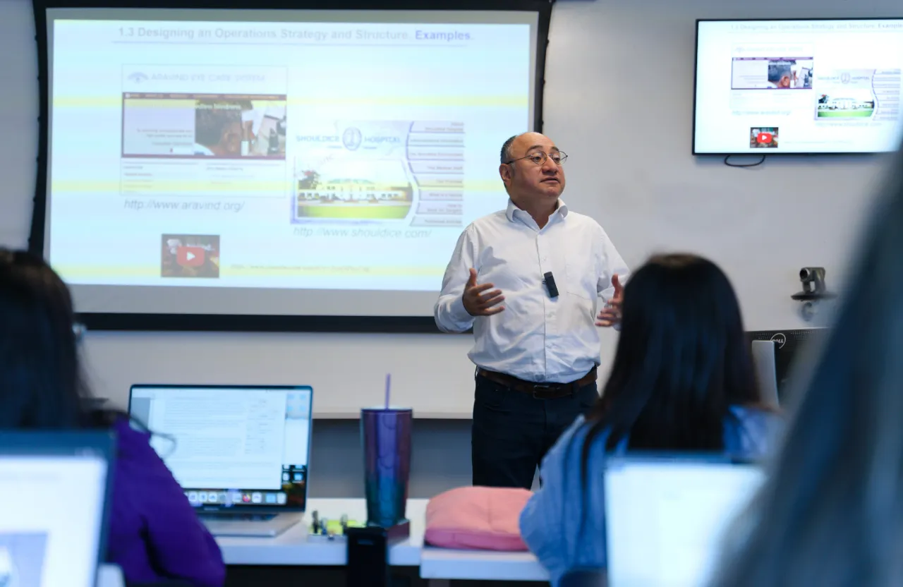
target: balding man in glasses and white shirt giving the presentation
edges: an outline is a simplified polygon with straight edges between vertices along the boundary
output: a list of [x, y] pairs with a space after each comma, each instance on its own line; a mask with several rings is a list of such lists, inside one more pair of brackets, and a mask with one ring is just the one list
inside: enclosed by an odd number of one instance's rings
[[596, 327], [619, 323], [628, 268], [599, 223], [559, 199], [565, 159], [545, 135], [509, 138], [498, 167], [507, 210], [464, 229], [442, 278], [436, 324], [474, 331], [474, 485], [530, 489], [545, 452], [599, 397]]

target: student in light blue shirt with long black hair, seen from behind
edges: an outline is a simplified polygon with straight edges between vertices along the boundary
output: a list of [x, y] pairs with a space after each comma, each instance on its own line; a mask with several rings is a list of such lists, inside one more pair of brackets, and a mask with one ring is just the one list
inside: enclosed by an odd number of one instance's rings
[[759, 406], [731, 283], [711, 261], [655, 256], [624, 288], [621, 332], [599, 402], [563, 433], [520, 517], [526, 545], [556, 585], [605, 568], [605, 457], [627, 451], [768, 451], [777, 415]]

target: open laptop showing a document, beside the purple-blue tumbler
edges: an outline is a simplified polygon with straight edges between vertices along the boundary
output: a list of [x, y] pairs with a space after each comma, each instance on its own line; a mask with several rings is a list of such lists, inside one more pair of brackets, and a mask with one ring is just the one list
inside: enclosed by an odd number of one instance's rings
[[307, 502], [311, 387], [135, 385], [129, 413], [213, 536], [277, 536]]

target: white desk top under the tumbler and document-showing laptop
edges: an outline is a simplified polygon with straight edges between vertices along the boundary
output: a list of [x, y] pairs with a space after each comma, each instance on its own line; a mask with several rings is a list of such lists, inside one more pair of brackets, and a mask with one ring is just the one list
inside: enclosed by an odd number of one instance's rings
[[[389, 564], [419, 566], [424, 545], [426, 499], [408, 499], [405, 515], [411, 520], [411, 536], [392, 545]], [[348, 561], [346, 544], [325, 540], [308, 540], [311, 514], [338, 519], [367, 519], [363, 499], [309, 499], [303, 519], [275, 538], [219, 537], [217, 543], [226, 564], [286, 564], [299, 566], [342, 566]]]

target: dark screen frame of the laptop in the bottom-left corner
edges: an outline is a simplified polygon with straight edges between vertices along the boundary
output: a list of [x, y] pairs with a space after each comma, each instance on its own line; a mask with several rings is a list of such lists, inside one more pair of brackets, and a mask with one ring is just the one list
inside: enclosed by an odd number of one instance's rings
[[116, 434], [107, 432], [0, 431], [0, 456], [67, 457], [90, 454], [107, 465], [98, 528], [98, 552], [92, 559], [95, 580], [107, 561], [107, 536], [116, 465]]

